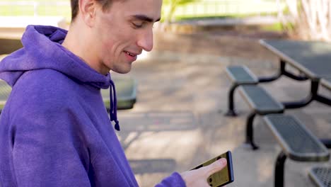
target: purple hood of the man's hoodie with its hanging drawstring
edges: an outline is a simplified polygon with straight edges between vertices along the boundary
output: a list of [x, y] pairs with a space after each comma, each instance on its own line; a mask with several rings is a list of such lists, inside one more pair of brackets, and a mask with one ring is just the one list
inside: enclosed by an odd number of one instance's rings
[[24, 72], [53, 69], [98, 89], [108, 89], [110, 86], [110, 120], [115, 121], [115, 128], [120, 130], [115, 85], [110, 74], [96, 72], [79, 57], [66, 50], [62, 46], [66, 33], [66, 30], [53, 26], [28, 26], [22, 37], [23, 48], [0, 62], [0, 79], [13, 87]]

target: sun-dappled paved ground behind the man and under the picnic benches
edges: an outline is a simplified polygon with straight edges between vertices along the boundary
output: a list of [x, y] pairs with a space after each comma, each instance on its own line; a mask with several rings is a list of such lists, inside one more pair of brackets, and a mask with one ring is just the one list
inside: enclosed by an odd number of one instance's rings
[[[261, 148], [253, 152], [242, 146], [250, 110], [239, 94], [236, 106], [240, 116], [224, 116], [230, 86], [224, 72], [228, 64], [246, 64], [259, 76], [277, 69], [277, 57], [260, 47], [260, 37], [249, 32], [231, 36], [215, 31], [156, 34], [155, 50], [125, 75], [138, 81], [137, 103], [134, 109], [119, 113], [122, 131], [118, 136], [141, 186], [153, 186], [173, 171], [191, 169], [227, 150], [233, 153], [235, 174], [235, 182], [228, 186], [273, 186], [280, 148], [272, 134], [256, 118], [255, 137]], [[309, 83], [281, 78], [263, 86], [279, 101], [286, 101], [306, 96]], [[318, 137], [330, 137], [330, 107], [311, 103], [286, 113], [304, 121]], [[307, 172], [318, 164], [330, 162], [287, 160], [286, 186], [313, 186]]]

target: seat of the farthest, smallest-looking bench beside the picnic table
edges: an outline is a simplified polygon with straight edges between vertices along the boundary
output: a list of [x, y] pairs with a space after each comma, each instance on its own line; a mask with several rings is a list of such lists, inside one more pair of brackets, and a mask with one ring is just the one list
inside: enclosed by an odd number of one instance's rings
[[259, 82], [255, 74], [245, 66], [228, 66], [226, 74], [233, 84], [257, 84]]

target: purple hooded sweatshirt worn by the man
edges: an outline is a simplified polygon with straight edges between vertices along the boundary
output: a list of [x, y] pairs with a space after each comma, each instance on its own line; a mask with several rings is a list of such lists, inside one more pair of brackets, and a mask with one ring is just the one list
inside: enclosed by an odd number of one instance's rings
[[[110, 74], [62, 47], [66, 30], [28, 26], [23, 48], [0, 62], [12, 86], [0, 115], [0, 186], [138, 186], [100, 89]], [[114, 89], [115, 91], [115, 89]], [[111, 98], [112, 100], [112, 98]], [[185, 186], [173, 173], [156, 186]]]

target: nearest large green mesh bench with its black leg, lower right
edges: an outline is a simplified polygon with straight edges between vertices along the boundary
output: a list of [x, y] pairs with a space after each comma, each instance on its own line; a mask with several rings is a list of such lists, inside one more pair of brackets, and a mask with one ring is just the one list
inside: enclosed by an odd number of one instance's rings
[[330, 158], [325, 145], [293, 116], [271, 114], [263, 119], [282, 148], [275, 163], [274, 186], [284, 186], [287, 157], [301, 162], [325, 162]]

